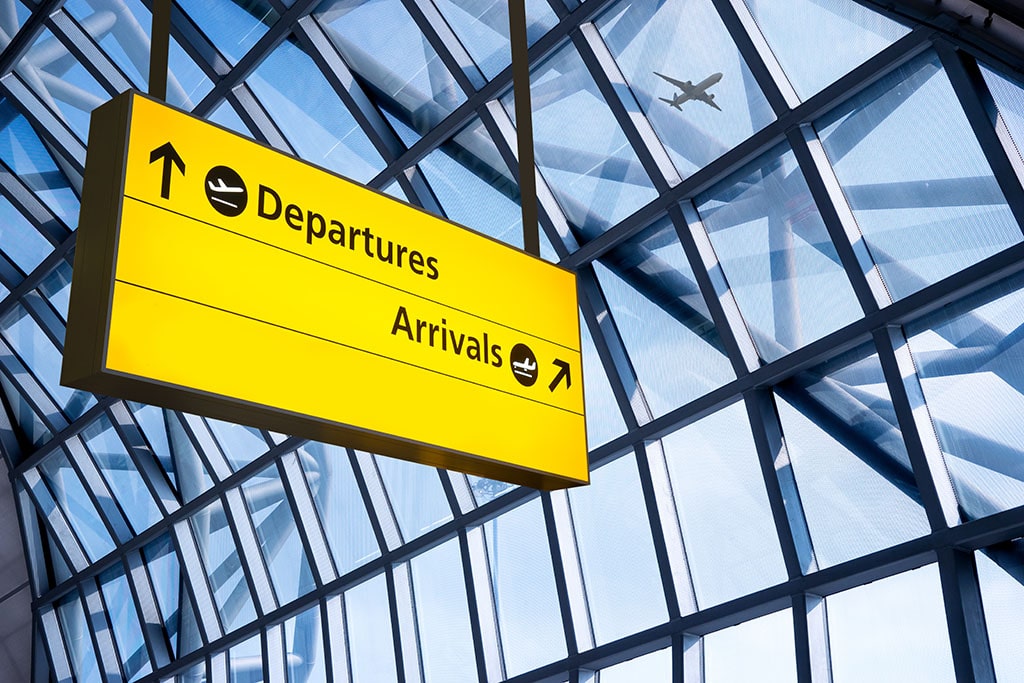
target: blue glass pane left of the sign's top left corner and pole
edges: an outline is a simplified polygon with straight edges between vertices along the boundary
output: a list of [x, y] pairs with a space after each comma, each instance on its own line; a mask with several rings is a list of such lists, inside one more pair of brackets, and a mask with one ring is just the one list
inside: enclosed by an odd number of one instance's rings
[[39, 34], [14, 73], [83, 141], [89, 136], [92, 110], [110, 99], [110, 93], [49, 29]]

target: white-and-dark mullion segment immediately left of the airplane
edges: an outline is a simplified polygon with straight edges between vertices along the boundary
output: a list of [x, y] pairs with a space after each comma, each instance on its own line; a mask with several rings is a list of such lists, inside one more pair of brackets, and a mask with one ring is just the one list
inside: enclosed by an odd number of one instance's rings
[[[629, 89], [626, 77], [604, 44], [597, 27], [591, 23], [584, 24], [578, 32], [572, 33], [571, 38], [618, 127], [653, 182], [654, 189], [660, 195], [671, 186], [678, 185], [682, 182], [679, 171]], [[621, 94], [626, 91], [630, 94]]]

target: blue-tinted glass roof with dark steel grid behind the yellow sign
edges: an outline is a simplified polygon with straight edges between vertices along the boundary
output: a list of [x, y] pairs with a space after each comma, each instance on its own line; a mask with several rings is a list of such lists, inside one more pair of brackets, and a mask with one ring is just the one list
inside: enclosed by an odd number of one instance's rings
[[[60, 386], [89, 113], [146, 89], [152, 3], [0, 0], [33, 679], [1019, 680], [1024, 56], [883, 4], [525, 2], [592, 467], [542, 494]], [[170, 103], [521, 246], [503, 0], [172, 26]]]

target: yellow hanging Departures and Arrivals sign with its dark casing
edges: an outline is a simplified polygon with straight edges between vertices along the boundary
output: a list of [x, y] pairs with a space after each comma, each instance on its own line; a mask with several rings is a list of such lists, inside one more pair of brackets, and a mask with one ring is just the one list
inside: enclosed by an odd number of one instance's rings
[[137, 93], [89, 135], [62, 383], [556, 488], [575, 276]]

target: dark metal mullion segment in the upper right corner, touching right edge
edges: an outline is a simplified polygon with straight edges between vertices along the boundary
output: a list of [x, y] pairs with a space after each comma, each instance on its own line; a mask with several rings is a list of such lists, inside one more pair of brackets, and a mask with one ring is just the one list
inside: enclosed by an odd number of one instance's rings
[[[963, 53], [946, 40], [935, 41], [935, 51], [939, 54], [943, 70], [953, 86], [1002, 197], [1017, 220], [1018, 227], [1024, 231], [1024, 188], [1021, 187], [1018, 169], [1010, 161], [1012, 150], [1008, 151], [1004, 146], [996, 133], [998, 112], [981, 71], [974, 60], [967, 63]], [[1013, 154], [1016, 156], [1015, 151]]]

